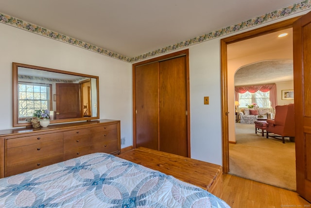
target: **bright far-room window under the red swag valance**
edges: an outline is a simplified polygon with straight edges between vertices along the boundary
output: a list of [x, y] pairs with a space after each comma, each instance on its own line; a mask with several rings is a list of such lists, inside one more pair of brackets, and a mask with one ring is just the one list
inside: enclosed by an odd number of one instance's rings
[[240, 108], [244, 108], [247, 106], [247, 104], [249, 105], [251, 103], [257, 103], [260, 108], [270, 108], [271, 103], [269, 97], [270, 92], [262, 93], [260, 91], [257, 91], [256, 93], [239, 93]]

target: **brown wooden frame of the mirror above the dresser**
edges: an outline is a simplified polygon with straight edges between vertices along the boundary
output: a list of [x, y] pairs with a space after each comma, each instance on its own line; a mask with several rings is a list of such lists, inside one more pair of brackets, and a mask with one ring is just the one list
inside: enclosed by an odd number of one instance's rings
[[[92, 76], [92, 75], [85, 75], [80, 73], [74, 73], [74, 72], [67, 72], [57, 69], [50, 69], [40, 66], [33, 66], [33, 65], [27, 65], [27, 64], [21, 64], [21, 63], [14, 63], [13, 62], [13, 127], [21, 127], [21, 126], [31, 126], [31, 122], [19, 122], [18, 120], [18, 67], [23, 68], [29, 68], [29, 69], [35, 69], [35, 70], [42, 70], [47, 72], [54, 72], [54, 73], [60, 73], [65, 75], [73, 75], [73, 76], [84, 76], [87, 78], [95, 78], [96, 79], [96, 103], [92, 104], [92, 106], [95, 106], [96, 108], [96, 116], [89, 116], [89, 117], [77, 117], [77, 118], [65, 118], [65, 119], [54, 119], [51, 120], [50, 123], [66, 123], [66, 122], [74, 122], [74, 121], [87, 121], [87, 120], [94, 120], [99, 119], [99, 77], [98, 76]], [[51, 95], [51, 99], [53, 99], [53, 95]], [[81, 100], [80, 100], [81, 103]], [[52, 107], [51, 107], [52, 108]], [[51, 109], [49, 109], [51, 111]], [[81, 110], [81, 106], [80, 106]], [[82, 111], [81, 111], [82, 112]]]

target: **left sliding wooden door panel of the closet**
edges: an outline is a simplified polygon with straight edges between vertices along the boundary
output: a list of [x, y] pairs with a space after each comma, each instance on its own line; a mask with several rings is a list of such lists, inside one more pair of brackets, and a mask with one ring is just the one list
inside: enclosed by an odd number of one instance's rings
[[136, 147], [158, 150], [158, 62], [135, 68]]

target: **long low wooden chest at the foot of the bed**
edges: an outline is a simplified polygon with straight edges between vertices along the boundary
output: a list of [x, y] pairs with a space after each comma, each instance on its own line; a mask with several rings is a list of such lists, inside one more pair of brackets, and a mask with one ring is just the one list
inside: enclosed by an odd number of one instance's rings
[[118, 157], [173, 175], [220, 198], [223, 196], [223, 168], [220, 165], [144, 147], [122, 151]]

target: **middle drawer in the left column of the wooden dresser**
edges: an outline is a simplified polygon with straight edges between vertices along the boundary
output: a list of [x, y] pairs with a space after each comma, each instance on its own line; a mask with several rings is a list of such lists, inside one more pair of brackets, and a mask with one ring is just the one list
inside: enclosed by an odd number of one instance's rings
[[23, 147], [10, 148], [7, 150], [7, 164], [15, 165], [18, 163], [35, 160], [41, 157], [63, 153], [63, 140], [59, 139], [51, 142], [41, 142]]

